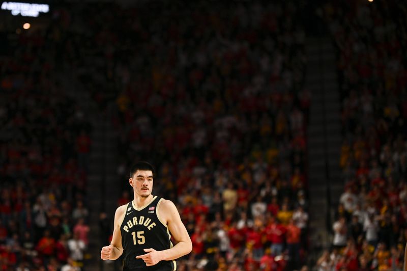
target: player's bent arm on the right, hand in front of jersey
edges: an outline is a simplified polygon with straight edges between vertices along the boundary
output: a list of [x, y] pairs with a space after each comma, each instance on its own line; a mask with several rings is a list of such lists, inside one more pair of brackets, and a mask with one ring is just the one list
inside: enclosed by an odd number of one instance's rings
[[167, 223], [169, 231], [177, 241], [177, 245], [162, 251], [156, 251], [152, 248], [144, 249], [147, 254], [139, 255], [136, 258], [143, 259], [147, 266], [157, 264], [162, 260], [169, 261], [178, 259], [190, 253], [192, 250], [191, 238], [181, 221], [175, 204], [170, 200], [163, 200], [158, 207], [160, 208], [163, 220]]

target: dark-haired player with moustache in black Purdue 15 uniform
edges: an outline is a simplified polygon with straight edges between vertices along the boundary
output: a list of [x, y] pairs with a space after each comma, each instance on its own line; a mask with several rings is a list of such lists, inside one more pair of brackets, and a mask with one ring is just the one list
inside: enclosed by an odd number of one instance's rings
[[[151, 194], [153, 173], [147, 162], [137, 162], [131, 168], [134, 200], [116, 210], [112, 240], [100, 252], [102, 260], [115, 260], [124, 253], [123, 271], [176, 270], [175, 259], [192, 250], [177, 207]], [[177, 241], [175, 246], [170, 233]]]

